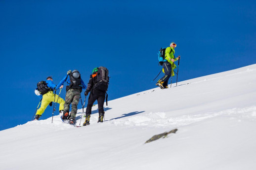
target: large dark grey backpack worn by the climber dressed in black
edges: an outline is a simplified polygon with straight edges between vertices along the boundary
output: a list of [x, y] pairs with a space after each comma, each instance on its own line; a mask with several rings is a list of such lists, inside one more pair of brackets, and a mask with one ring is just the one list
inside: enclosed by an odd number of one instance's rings
[[96, 80], [94, 82], [94, 88], [100, 91], [107, 91], [109, 84], [108, 69], [99, 67], [97, 71]]

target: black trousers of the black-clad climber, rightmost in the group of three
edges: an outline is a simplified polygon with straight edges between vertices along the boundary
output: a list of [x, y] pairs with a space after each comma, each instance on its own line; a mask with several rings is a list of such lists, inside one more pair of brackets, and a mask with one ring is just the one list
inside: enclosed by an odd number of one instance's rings
[[103, 105], [104, 105], [104, 101], [105, 101], [105, 96], [106, 96], [106, 92], [102, 92], [102, 91], [99, 91], [96, 89], [94, 89], [90, 92], [88, 104], [87, 104], [86, 112], [85, 112], [86, 116], [91, 114], [91, 107], [96, 100], [98, 102], [99, 113], [104, 113]]

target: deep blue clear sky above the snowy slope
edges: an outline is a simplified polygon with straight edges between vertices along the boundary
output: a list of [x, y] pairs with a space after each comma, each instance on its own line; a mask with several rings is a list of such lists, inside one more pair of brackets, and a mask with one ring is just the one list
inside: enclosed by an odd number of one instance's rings
[[0, 0], [0, 16], [0, 130], [31, 120], [37, 82], [69, 69], [87, 84], [109, 68], [109, 100], [156, 87], [158, 50], [172, 41], [179, 81], [256, 64], [254, 0]]

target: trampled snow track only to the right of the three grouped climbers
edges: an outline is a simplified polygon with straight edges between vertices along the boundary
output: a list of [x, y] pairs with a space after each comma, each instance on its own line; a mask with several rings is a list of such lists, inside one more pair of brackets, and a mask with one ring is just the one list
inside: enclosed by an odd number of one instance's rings
[[128, 118], [109, 121], [109, 124], [114, 125], [129, 125], [129, 126], [149, 126], [149, 127], [181, 127], [190, 125], [205, 119], [210, 119], [217, 116], [228, 116], [230, 118], [251, 118], [256, 121], [256, 106], [246, 108], [233, 108], [219, 112], [207, 112], [194, 115], [183, 115], [177, 117], [168, 117], [165, 112], [150, 112], [142, 115], [135, 115]]

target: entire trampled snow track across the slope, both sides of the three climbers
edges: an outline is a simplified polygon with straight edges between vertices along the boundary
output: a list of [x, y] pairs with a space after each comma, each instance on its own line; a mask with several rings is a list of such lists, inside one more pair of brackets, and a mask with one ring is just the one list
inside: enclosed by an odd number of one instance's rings
[[[80, 117], [82, 113], [77, 113], [77, 117]], [[232, 108], [227, 110], [222, 110], [219, 112], [206, 112], [201, 114], [188, 114], [182, 116], [172, 117], [170, 114], [165, 112], [150, 112], [143, 113], [128, 117], [122, 117], [122, 119], [109, 119], [105, 120], [103, 123], [106, 125], [115, 125], [115, 126], [143, 126], [143, 127], [154, 127], [154, 128], [163, 128], [163, 127], [182, 127], [187, 126], [193, 123], [197, 123], [200, 121], [204, 121], [206, 119], [211, 119], [218, 116], [226, 116], [231, 119], [237, 119], [238, 121], [242, 121], [243, 119], [250, 118], [251, 121], [256, 121], [256, 106], [245, 107], [245, 108]], [[58, 120], [59, 118], [59, 120]], [[81, 126], [84, 123], [85, 118], [81, 121]], [[98, 115], [92, 114], [90, 118], [90, 123], [97, 123]], [[79, 125], [80, 119], [77, 119], [76, 125]], [[67, 130], [70, 128], [76, 128], [69, 124], [63, 123], [60, 120], [59, 116], [54, 116], [53, 123], [51, 123], [51, 118], [40, 121], [31, 121], [25, 124], [25, 126], [37, 125], [45, 127], [45, 125], [49, 125], [48, 127], [55, 130]], [[20, 126], [20, 125], [19, 125]]]

